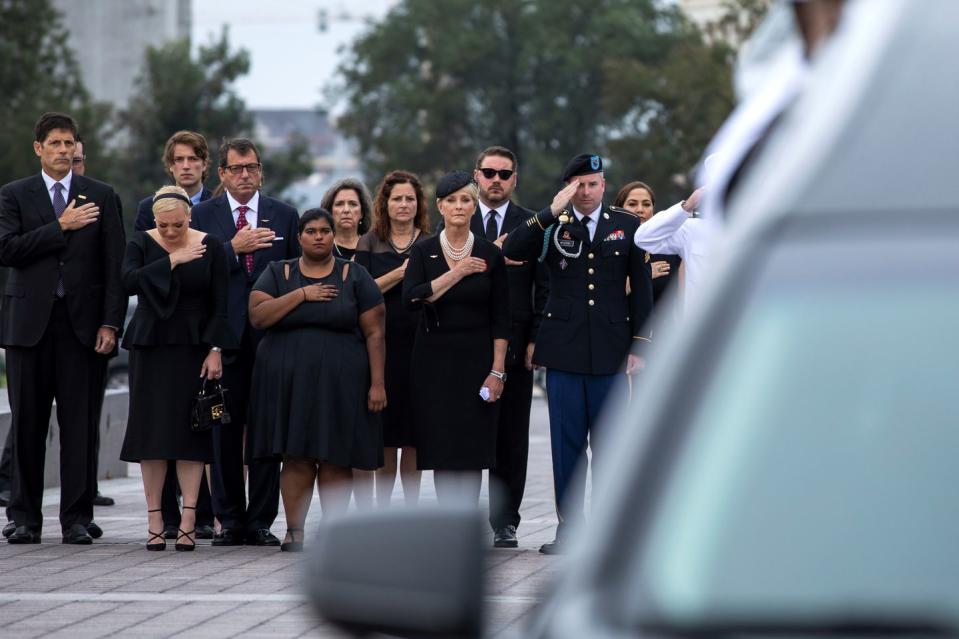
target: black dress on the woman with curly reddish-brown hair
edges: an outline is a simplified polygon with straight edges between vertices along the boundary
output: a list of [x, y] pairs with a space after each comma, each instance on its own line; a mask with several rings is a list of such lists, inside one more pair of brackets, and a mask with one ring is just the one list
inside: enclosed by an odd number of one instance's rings
[[[429, 237], [421, 232], [416, 246]], [[389, 242], [370, 231], [356, 245], [354, 261], [361, 264], [373, 279], [399, 268], [410, 256], [410, 250], [396, 252]], [[383, 294], [386, 303], [386, 409], [383, 411], [383, 445], [402, 448], [413, 445], [413, 412], [410, 403], [410, 355], [416, 334], [416, 314], [403, 305], [403, 283], [399, 282]]]

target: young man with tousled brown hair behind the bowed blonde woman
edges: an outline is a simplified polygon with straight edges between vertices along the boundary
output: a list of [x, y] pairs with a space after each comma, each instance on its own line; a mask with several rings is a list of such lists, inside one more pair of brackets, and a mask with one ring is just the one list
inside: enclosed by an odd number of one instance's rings
[[[187, 192], [193, 206], [213, 197], [213, 192], [203, 185], [209, 162], [210, 149], [206, 138], [194, 131], [177, 131], [163, 147], [163, 166], [173, 178], [173, 183]], [[152, 228], [156, 228], [156, 220], [153, 219], [153, 196], [149, 195], [140, 200], [137, 206], [133, 230], [148, 231]], [[180, 528], [180, 507], [177, 503], [179, 485], [175, 466], [175, 462], [167, 462], [166, 480], [163, 482], [163, 495], [160, 499], [163, 536], [167, 539], [176, 539]], [[205, 477], [200, 481], [200, 492], [197, 495], [196, 538], [213, 539], [213, 506], [210, 487]]]

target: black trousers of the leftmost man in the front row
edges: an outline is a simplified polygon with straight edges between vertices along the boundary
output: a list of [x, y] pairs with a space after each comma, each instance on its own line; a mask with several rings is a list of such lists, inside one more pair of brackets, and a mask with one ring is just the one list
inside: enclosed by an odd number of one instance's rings
[[60, 526], [93, 519], [97, 417], [107, 358], [84, 346], [57, 301], [39, 343], [7, 348], [7, 391], [13, 430], [9, 513], [18, 526], [43, 526], [43, 467], [52, 402], [60, 426]]

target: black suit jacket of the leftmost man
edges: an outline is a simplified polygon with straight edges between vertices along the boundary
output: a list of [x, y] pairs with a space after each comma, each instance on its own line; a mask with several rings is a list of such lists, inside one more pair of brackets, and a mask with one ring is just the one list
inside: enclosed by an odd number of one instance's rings
[[95, 202], [97, 221], [60, 229], [40, 174], [0, 189], [0, 264], [10, 267], [0, 308], [0, 346], [35, 346], [46, 331], [57, 282], [77, 339], [96, 345], [97, 330], [123, 330], [127, 297], [120, 283], [123, 227], [113, 188], [73, 174], [67, 204]]

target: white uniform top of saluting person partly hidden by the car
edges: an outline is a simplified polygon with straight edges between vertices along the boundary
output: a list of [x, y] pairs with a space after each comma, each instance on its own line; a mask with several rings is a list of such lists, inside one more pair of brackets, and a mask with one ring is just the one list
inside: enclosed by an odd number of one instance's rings
[[686, 268], [684, 312], [698, 303], [703, 280], [711, 266], [710, 254], [717, 228], [714, 220], [689, 217], [680, 202], [640, 224], [633, 236], [633, 242], [644, 251], [683, 258]]

